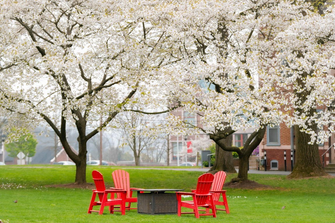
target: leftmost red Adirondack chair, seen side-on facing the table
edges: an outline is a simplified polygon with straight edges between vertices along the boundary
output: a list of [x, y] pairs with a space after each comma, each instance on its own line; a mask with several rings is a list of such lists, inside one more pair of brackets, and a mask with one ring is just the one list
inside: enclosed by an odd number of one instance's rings
[[[103, 175], [99, 172], [94, 170], [92, 172], [92, 177], [93, 177], [93, 181], [95, 184], [96, 189], [92, 190], [93, 191], [93, 195], [91, 198], [91, 203], [89, 204], [89, 208], [88, 208], [88, 214], [92, 213], [92, 212], [99, 212], [100, 215], [103, 214], [104, 212], [104, 208], [106, 206], [109, 206], [109, 210], [110, 213], [113, 214], [114, 211], [114, 205], [120, 205], [120, 210], [117, 210], [118, 212], [121, 212], [122, 215], [125, 215], [125, 205], [126, 205], [126, 195], [127, 195], [127, 191], [126, 190], [106, 190], [105, 188], [105, 182], [104, 182], [104, 178]], [[112, 193], [117, 193], [119, 195], [119, 198], [117, 199], [108, 199], [108, 194], [112, 194]], [[96, 195], [98, 195], [99, 200], [95, 201]], [[100, 210], [99, 211], [95, 211], [93, 210], [93, 206], [97, 206], [100, 205]]]

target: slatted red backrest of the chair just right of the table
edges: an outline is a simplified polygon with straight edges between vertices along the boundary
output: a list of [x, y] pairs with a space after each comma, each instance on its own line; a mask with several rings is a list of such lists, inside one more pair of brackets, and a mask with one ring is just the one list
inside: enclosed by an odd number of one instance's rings
[[212, 186], [214, 176], [213, 174], [206, 173], [201, 175], [198, 178], [196, 196], [197, 196], [197, 204], [203, 205], [206, 203], [207, 196], [203, 196], [202, 194], [208, 194], [210, 187]]

